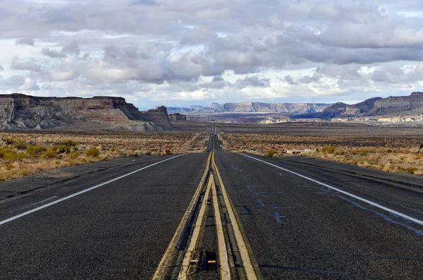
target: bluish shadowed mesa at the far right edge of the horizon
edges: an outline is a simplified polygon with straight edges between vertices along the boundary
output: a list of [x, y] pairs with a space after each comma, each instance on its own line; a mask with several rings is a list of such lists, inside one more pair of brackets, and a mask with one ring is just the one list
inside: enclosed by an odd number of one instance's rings
[[423, 114], [423, 92], [412, 92], [409, 96], [373, 97], [353, 105], [338, 102], [321, 112], [297, 114], [291, 118], [417, 116], [420, 114]]

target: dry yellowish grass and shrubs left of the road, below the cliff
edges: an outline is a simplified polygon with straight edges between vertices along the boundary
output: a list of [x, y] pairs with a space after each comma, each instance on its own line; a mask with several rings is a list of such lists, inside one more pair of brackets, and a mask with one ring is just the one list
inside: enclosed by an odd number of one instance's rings
[[202, 152], [203, 133], [0, 133], [0, 181], [136, 154]]

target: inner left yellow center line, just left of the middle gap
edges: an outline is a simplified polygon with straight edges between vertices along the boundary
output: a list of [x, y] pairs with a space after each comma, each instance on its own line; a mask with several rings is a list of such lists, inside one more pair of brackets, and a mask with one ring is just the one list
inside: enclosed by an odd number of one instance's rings
[[210, 189], [212, 188], [212, 180], [209, 180], [207, 184], [206, 193], [204, 194], [204, 198], [200, 207], [200, 212], [197, 217], [197, 221], [195, 221], [194, 231], [192, 231], [192, 238], [190, 241], [190, 245], [188, 245], [187, 252], [185, 253], [185, 257], [183, 258], [182, 267], [180, 267], [180, 272], [178, 275], [178, 279], [185, 280], [188, 278], [188, 270], [190, 269], [190, 262], [192, 259], [192, 254], [195, 252], [195, 248], [197, 248], [197, 243], [200, 238], [200, 231], [202, 229], [204, 217], [206, 217], [206, 208], [207, 208], [207, 199], [209, 198]]

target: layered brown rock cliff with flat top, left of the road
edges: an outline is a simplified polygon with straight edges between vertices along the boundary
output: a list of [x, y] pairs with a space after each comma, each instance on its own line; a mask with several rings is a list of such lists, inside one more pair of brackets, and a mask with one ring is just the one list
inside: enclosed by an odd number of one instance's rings
[[122, 97], [0, 95], [0, 128], [152, 131], [171, 129], [166, 107], [139, 111]]

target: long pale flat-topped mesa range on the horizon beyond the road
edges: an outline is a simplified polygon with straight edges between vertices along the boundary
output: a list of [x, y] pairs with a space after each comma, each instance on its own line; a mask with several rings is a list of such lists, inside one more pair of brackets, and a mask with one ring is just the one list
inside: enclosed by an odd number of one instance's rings
[[212, 103], [210, 106], [189, 106], [188, 108], [167, 107], [168, 114], [211, 114], [211, 113], [279, 113], [311, 114], [321, 112], [331, 104], [324, 103]]

